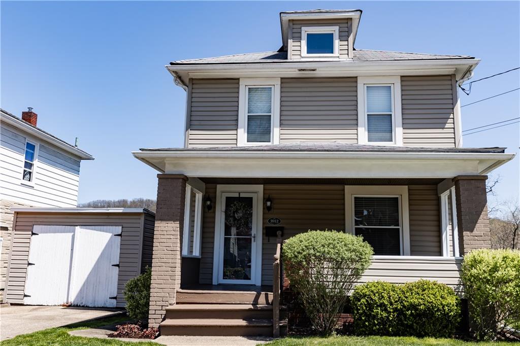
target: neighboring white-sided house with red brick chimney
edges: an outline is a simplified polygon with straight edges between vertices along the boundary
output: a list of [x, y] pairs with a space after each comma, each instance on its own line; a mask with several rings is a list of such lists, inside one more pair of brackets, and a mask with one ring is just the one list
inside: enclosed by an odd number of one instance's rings
[[36, 127], [29, 108], [18, 118], [0, 109], [0, 289], [11, 250], [11, 207], [76, 207], [80, 163], [94, 157]]

